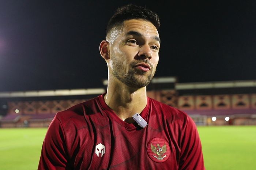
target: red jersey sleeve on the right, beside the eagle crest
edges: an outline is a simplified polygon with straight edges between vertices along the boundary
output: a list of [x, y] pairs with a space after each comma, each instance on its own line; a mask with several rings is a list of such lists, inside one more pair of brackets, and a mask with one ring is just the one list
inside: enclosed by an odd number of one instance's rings
[[181, 141], [179, 170], [205, 170], [199, 134], [195, 122], [189, 116]]

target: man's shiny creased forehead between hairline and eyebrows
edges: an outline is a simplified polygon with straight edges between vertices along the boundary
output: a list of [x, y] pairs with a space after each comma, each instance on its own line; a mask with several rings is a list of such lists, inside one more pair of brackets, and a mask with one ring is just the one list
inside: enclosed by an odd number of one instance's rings
[[141, 34], [159, 37], [157, 28], [151, 22], [142, 19], [125, 20], [122, 30], [123, 33], [128, 33], [129, 31], [138, 31]]

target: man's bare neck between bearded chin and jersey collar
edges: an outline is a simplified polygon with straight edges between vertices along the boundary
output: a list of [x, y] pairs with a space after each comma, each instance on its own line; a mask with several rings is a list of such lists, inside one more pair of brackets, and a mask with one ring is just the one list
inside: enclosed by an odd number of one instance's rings
[[131, 88], [119, 81], [108, 80], [106, 104], [126, 122], [133, 122], [135, 113], [141, 113], [147, 105], [146, 87]]

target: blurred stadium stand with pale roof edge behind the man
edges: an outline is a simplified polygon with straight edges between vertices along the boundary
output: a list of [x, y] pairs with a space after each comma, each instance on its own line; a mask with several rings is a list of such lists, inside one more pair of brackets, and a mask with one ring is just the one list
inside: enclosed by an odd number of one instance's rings
[[[0, 127], [48, 127], [57, 112], [97, 97], [106, 87], [104, 80], [94, 89], [0, 92]], [[256, 125], [256, 80], [177, 83], [176, 77], [159, 77], [147, 95], [188, 113], [197, 125]]]

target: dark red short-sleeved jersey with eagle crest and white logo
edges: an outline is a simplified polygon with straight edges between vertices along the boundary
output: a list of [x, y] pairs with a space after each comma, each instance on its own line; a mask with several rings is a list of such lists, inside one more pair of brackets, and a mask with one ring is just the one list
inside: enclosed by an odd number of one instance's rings
[[147, 98], [145, 128], [121, 120], [103, 95], [59, 112], [38, 170], [204, 170], [201, 142], [184, 112]]

